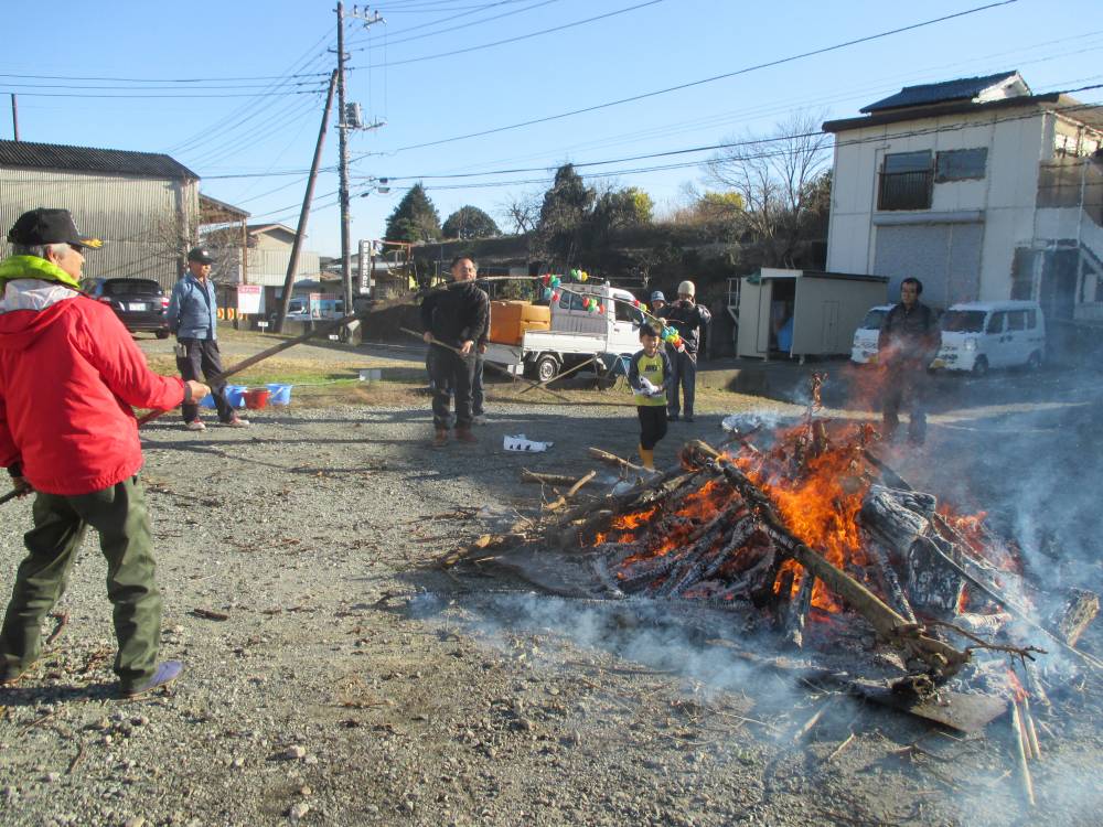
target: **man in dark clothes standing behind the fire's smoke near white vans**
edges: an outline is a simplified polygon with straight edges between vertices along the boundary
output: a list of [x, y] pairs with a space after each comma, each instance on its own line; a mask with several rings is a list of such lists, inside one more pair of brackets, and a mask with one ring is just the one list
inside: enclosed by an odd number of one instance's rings
[[892, 440], [900, 425], [899, 412], [907, 407], [908, 441], [921, 445], [927, 439], [927, 368], [939, 352], [939, 325], [934, 311], [919, 301], [923, 282], [907, 278], [900, 283], [900, 303], [885, 316], [877, 340], [877, 358], [885, 365], [885, 400], [881, 437]]

